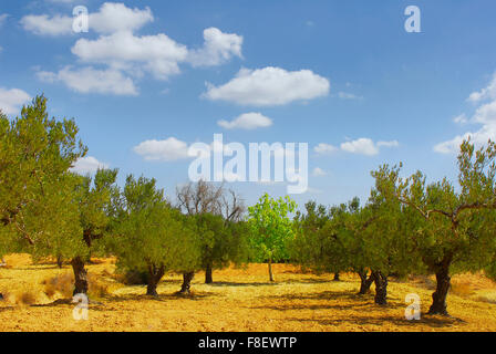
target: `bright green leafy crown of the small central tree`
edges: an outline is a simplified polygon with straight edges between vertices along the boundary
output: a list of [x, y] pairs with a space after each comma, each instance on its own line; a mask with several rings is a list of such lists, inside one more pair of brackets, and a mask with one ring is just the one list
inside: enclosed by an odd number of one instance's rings
[[297, 204], [288, 196], [275, 200], [268, 194], [248, 208], [250, 243], [258, 261], [278, 262], [289, 258], [287, 243], [294, 235], [289, 214], [294, 212], [296, 208]]

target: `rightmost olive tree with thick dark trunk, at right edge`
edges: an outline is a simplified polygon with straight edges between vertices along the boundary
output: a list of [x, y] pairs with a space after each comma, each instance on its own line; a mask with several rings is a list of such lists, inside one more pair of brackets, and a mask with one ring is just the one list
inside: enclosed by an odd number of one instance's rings
[[446, 178], [426, 184], [417, 171], [388, 180], [400, 168], [381, 167], [373, 174], [385, 198], [394, 198], [421, 216], [411, 233], [423, 263], [436, 277], [430, 314], [447, 314], [451, 275], [490, 267], [496, 249], [496, 144], [475, 149], [465, 140], [458, 155], [458, 186]]

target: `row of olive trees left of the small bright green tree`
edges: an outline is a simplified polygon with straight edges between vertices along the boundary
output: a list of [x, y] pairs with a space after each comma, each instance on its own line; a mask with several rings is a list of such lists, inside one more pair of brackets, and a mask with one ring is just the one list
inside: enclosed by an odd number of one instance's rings
[[91, 256], [117, 257], [122, 271], [143, 271], [147, 293], [166, 272], [184, 275], [247, 262], [246, 207], [232, 190], [207, 183], [177, 189], [172, 205], [155, 179], [128, 176], [121, 189], [116, 169], [94, 177], [71, 171], [87, 148], [73, 119], [49, 118], [38, 96], [10, 121], [0, 113], [0, 256], [29, 252], [70, 262], [74, 294], [87, 292]]

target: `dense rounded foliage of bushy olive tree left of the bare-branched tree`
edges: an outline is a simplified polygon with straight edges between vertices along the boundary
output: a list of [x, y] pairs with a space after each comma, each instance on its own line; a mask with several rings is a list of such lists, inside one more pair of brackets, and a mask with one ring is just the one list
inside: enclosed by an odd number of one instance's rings
[[107, 241], [120, 269], [163, 267], [183, 272], [200, 267], [194, 221], [169, 206], [155, 179], [128, 176], [123, 196], [124, 209], [115, 236]]

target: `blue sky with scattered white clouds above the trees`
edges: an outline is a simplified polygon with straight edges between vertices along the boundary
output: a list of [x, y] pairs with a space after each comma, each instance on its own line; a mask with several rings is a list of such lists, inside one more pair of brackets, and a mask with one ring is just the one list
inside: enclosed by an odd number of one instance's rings
[[[404, 29], [410, 4], [421, 33]], [[90, 12], [87, 33], [72, 31], [75, 6]], [[14, 116], [44, 93], [51, 115], [81, 128], [81, 170], [155, 177], [168, 195], [188, 179], [185, 147], [223, 133], [308, 143], [300, 205], [365, 199], [383, 163], [455, 179], [461, 138], [496, 138], [495, 10], [490, 0], [2, 1], [0, 108]], [[286, 194], [231, 187], [249, 204]]]

